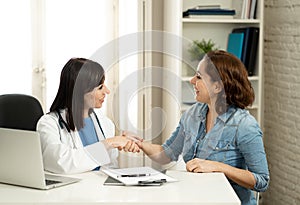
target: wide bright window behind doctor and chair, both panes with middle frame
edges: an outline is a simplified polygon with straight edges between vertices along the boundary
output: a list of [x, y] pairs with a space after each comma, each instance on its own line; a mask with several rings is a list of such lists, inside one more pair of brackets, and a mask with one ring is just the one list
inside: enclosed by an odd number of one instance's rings
[[[46, 111], [60, 71], [72, 57], [91, 57], [114, 39], [112, 0], [3, 0], [0, 8], [0, 94], [45, 90]], [[101, 62], [99, 62], [101, 63]], [[45, 79], [35, 69], [45, 68]], [[44, 75], [44, 74], [43, 74]], [[45, 86], [45, 88], [43, 87]], [[41, 87], [41, 88], [37, 88]], [[38, 92], [37, 95], [43, 95]], [[44, 96], [36, 96], [44, 101]]]

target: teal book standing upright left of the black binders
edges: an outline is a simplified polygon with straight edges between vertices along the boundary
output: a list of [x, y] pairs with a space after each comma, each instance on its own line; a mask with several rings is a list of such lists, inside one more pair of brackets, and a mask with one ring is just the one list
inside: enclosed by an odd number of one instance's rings
[[244, 33], [230, 33], [228, 36], [227, 51], [241, 59], [243, 43]]

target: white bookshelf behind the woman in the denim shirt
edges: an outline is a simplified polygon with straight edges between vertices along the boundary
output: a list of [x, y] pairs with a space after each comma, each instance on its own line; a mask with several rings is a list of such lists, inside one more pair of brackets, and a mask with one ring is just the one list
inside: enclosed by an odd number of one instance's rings
[[[248, 1], [248, 0], [244, 0]], [[237, 5], [243, 3], [243, 0], [166, 0], [164, 9], [164, 19], [168, 24], [165, 25], [164, 30], [171, 32], [182, 38], [181, 49], [181, 61], [178, 59], [171, 59], [165, 57], [166, 67], [172, 69], [177, 75], [181, 77], [181, 82], [177, 83], [178, 86], [178, 98], [180, 99], [180, 111], [181, 113], [190, 107], [191, 101], [194, 99], [193, 87], [190, 85], [189, 80], [194, 75], [194, 71], [186, 66], [185, 58], [187, 58], [185, 50], [187, 50], [187, 42], [193, 40], [209, 40], [211, 39], [216, 43], [217, 47], [222, 50], [227, 50], [228, 35], [235, 28], [243, 27], [258, 27], [259, 28], [259, 40], [257, 46], [257, 56], [255, 60], [255, 70], [253, 76], [249, 76], [249, 80], [255, 91], [255, 102], [248, 110], [257, 119], [260, 126], [263, 128], [263, 8], [264, 0], [257, 0], [256, 18], [241, 18], [241, 9]], [[176, 2], [176, 3], [175, 3]], [[182, 12], [189, 8], [194, 8], [198, 5], [216, 5], [219, 4], [222, 8], [235, 9], [236, 15], [233, 18], [217, 18], [215, 16], [209, 18], [186, 18], [182, 17]], [[174, 84], [174, 82], [173, 82]], [[187, 103], [184, 103], [187, 102]], [[174, 109], [178, 107], [176, 103], [173, 103], [169, 99], [165, 99], [165, 103], [174, 113]], [[178, 119], [179, 119], [178, 117]], [[168, 131], [168, 130], [167, 130]]]

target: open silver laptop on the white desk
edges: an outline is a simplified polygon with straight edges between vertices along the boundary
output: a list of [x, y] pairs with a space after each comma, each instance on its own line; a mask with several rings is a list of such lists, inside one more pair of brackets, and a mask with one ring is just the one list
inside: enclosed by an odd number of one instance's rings
[[80, 181], [45, 174], [36, 131], [0, 128], [0, 170], [0, 183], [43, 190]]

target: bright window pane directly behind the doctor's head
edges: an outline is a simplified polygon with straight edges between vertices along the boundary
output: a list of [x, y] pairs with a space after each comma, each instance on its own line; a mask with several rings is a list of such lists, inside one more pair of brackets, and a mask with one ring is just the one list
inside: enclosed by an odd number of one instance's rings
[[64, 64], [72, 57], [90, 58], [114, 38], [113, 2], [46, 0], [47, 110], [55, 98]]

